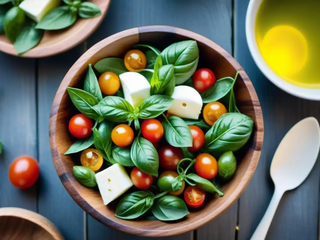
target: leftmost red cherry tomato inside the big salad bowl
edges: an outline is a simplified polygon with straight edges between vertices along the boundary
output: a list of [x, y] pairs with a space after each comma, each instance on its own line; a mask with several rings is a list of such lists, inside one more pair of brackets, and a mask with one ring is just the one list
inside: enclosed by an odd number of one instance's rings
[[70, 119], [69, 131], [72, 136], [84, 139], [92, 133], [92, 121], [89, 117], [83, 114], [77, 114]]

